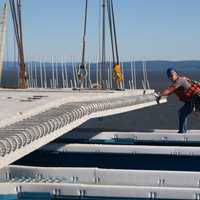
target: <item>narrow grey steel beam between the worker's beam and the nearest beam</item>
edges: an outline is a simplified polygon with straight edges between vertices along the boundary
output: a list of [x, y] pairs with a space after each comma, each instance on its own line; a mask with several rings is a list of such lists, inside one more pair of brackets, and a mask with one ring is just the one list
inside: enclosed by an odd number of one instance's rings
[[148, 145], [108, 145], [108, 144], [62, 144], [55, 143], [43, 147], [43, 151], [73, 153], [112, 153], [200, 156], [200, 147], [148, 146]]

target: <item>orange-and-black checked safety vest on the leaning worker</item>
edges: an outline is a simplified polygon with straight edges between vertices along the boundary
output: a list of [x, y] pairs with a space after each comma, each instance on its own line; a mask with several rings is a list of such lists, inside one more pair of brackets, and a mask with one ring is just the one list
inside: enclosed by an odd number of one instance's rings
[[179, 90], [177, 89], [175, 91], [175, 94], [178, 96], [178, 98], [183, 102], [189, 102], [192, 100], [192, 97], [195, 94], [200, 93], [200, 85], [197, 83], [194, 83], [192, 80], [188, 79], [188, 81], [191, 83], [191, 87], [187, 90]]

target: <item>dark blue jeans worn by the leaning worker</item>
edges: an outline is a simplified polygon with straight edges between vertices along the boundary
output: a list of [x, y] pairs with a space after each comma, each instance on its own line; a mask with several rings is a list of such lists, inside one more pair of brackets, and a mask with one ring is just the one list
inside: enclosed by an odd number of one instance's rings
[[188, 115], [193, 111], [193, 106], [191, 102], [187, 102], [183, 105], [183, 107], [179, 110], [179, 133], [187, 132], [187, 121]]

